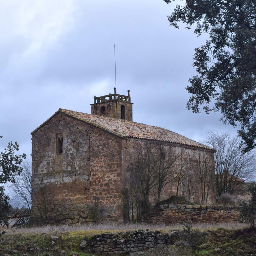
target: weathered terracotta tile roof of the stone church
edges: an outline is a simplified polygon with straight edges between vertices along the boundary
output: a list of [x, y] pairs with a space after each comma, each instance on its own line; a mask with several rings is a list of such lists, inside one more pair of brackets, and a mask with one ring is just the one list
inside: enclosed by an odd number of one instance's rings
[[[204, 144], [196, 142], [195, 140], [190, 140], [187, 137], [184, 137], [176, 132], [172, 132], [157, 126], [151, 126], [147, 124], [140, 124], [132, 121], [110, 118], [105, 116], [97, 116], [86, 114], [82, 112], [76, 112], [68, 109], [60, 108], [54, 115], [58, 112], [67, 114], [76, 119], [84, 121], [93, 126], [99, 127], [107, 132], [115, 134], [121, 138], [138, 138], [138, 139], [147, 139], [147, 140], [160, 140], [166, 142], [173, 142], [182, 145], [188, 145], [197, 148], [205, 148], [208, 150], [215, 151], [214, 148], [208, 147]], [[53, 116], [54, 116], [53, 115]], [[36, 128], [31, 134], [36, 132], [41, 126], [48, 122], [52, 116], [46, 120], [43, 124]]]

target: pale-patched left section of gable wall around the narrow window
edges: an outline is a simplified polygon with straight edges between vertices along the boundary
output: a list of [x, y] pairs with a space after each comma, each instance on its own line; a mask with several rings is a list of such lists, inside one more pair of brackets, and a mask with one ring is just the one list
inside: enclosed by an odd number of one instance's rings
[[[88, 127], [70, 119], [58, 113], [32, 135], [32, 208], [41, 207], [45, 197], [50, 223], [73, 222], [85, 214], [84, 191], [90, 188]], [[63, 138], [61, 154], [57, 137]]]

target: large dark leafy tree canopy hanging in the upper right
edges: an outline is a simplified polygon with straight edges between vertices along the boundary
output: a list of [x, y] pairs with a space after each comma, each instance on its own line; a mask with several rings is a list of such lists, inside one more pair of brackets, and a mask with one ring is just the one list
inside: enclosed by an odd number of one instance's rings
[[209, 35], [195, 49], [197, 75], [186, 88], [191, 93], [187, 108], [200, 113], [203, 105], [207, 114], [220, 111], [224, 124], [239, 126], [241, 145], [248, 152], [256, 147], [256, 0], [183, 2], [168, 17], [170, 26], [179, 28], [183, 22], [188, 29], [195, 25], [198, 36]]

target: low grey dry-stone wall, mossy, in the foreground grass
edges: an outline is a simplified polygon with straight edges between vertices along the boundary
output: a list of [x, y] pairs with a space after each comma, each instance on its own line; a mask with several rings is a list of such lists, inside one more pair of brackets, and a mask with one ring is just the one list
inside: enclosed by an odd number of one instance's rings
[[128, 232], [102, 233], [83, 240], [80, 247], [94, 255], [143, 255], [144, 252], [161, 244], [173, 244], [177, 231], [163, 234], [160, 231], [136, 230]]

